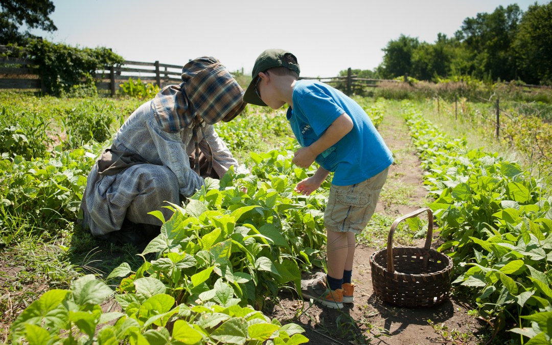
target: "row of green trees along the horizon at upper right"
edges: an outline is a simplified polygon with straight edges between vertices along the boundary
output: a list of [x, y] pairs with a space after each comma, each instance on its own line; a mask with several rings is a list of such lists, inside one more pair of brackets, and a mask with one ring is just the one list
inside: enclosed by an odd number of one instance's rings
[[498, 6], [492, 13], [464, 19], [454, 37], [438, 34], [434, 43], [400, 35], [384, 47], [374, 72], [383, 78], [406, 73], [436, 80], [470, 76], [552, 85], [552, 2]]

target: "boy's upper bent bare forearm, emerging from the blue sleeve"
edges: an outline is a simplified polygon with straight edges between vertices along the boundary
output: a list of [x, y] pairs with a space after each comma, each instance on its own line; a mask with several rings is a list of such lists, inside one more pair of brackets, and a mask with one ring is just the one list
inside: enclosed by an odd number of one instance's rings
[[295, 151], [292, 163], [301, 168], [308, 168], [314, 162], [316, 156], [336, 144], [342, 137], [353, 129], [353, 120], [347, 113], [341, 114], [326, 129], [324, 134], [310, 146], [301, 147]]

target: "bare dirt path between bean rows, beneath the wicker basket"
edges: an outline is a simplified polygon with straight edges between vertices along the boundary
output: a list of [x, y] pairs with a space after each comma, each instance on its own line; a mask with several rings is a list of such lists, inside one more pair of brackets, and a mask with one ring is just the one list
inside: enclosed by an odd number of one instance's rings
[[[390, 168], [376, 213], [392, 222], [400, 215], [423, 207], [427, 190], [422, 185], [420, 161], [399, 112], [388, 112], [379, 131], [393, 152], [395, 163]], [[353, 280], [357, 288], [353, 305], [346, 305], [342, 311], [321, 309], [283, 292], [271, 316], [298, 323], [305, 328], [309, 343], [314, 344], [446, 344], [454, 341], [476, 344], [474, 333], [481, 326], [467, 314], [468, 306], [455, 296], [439, 306], [425, 309], [396, 307], [375, 296], [369, 258], [386, 242], [389, 225], [378, 238], [371, 238], [370, 246], [362, 241], [357, 243], [353, 264]], [[406, 246], [422, 247], [423, 240], [406, 243]], [[429, 320], [437, 325], [435, 330]], [[454, 336], [445, 338], [443, 330]]]

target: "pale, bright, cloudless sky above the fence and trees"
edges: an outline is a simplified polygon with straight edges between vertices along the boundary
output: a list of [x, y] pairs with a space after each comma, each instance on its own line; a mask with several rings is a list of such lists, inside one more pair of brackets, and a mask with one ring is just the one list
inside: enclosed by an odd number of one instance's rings
[[[126, 60], [184, 65], [219, 59], [250, 74], [264, 49], [293, 52], [305, 77], [331, 77], [348, 67], [371, 70], [383, 49], [404, 34], [433, 43], [465, 18], [517, 3], [501, 0], [54, 0], [57, 31], [34, 34], [71, 46], [112, 48]], [[537, 1], [539, 4], [549, 1]]]

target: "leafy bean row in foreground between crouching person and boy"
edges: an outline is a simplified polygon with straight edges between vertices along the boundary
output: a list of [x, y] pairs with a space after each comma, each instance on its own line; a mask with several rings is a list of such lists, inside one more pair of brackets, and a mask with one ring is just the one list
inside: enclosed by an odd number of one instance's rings
[[301, 327], [282, 326], [252, 308], [300, 284], [301, 270], [325, 242], [326, 198], [293, 194], [306, 174], [292, 157], [291, 150], [253, 154], [251, 175], [230, 171], [220, 182], [208, 179], [187, 205], [169, 206], [175, 213], [142, 252], [142, 266], [132, 272], [121, 264], [107, 278], [124, 277], [115, 291], [123, 312], [102, 312], [101, 302], [114, 291], [86, 275], [26, 308], [12, 325], [13, 342], [306, 342]]

